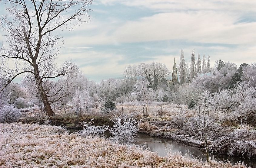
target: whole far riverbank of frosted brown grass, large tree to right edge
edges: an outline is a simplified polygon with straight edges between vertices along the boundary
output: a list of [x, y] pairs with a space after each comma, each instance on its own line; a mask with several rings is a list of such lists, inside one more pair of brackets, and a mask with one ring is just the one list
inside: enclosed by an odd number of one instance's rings
[[[114, 113], [103, 113], [97, 109], [91, 109], [77, 117], [71, 109], [58, 111], [52, 118], [53, 125], [68, 127], [69, 129], [81, 130], [81, 121], [90, 121], [94, 118], [97, 125], [109, 125], [113, 122], [111, 118], [114, 115], [125, 115], [136, 118], [141, 121], [140, 132], [154, 137], [168, 138], [188, 146], [197, 147], [204, 150], [205, 144], [201, 140], [200, 132], [197, 130], [195, 120], [197, 120], [196, 111], [183, 106], [181, 111], [175, 111], [176, 106], [151, 105], [147, 113], [139, 111], [138, 104], [119, 105]], [[36, 112], [26, 113], [22, 119], [25, 123], [41, 123]], [[44, 114], [42, 114], [44, 115]], [[34, 116], [34, 117], [33, 117]], [[227, 122], [221, 114], [216, 119], [211, 128], [211, 136], [208, 139], [208, 149], [217, 154], [228, 156], [239, 156], [245, 158], [256, 158], [256, 128], [246, 124]]]

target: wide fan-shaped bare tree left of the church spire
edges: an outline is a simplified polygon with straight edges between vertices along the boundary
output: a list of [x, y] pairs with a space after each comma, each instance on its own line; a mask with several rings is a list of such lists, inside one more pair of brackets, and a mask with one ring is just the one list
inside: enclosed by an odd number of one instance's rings
[[149, 87], [156, 89], [159, 83], [167, 78], [171, 72], [164, 63], [141, 63], [139, 64], [140, 73], [149, 82]]

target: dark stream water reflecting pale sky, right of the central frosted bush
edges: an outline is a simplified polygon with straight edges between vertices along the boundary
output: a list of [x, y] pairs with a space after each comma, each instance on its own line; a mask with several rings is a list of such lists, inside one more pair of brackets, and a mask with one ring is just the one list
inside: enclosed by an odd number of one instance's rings
[[[165, 156], [167, 153], [181, 153], [182, 156], [185, 157], [191, 157], [191, 158], [198, 158], [202, 161], [206, 161], [206, 153], [199, 150], [195, 147], [189, 147], [183, 144], [178, 144], [174, 141], [170, 141], [165, 138], [156, 138], [151, 137], [146, 134], [138, 134], [138, 137], [136, 138], [136, 144], [145, 147], [148, 147], [151, 151], [157, 152], [159, 156]], [[229, 160], [231, 163], [237, 163], [238, 161], [244, 162], [244, 164], [247, 164], [250, 167], [256, 168], [256, 160], [255, 159], [244, 159], [241, 157], [230, 157], [230, 156], [224, 156], [224, 155], [211, 155], [211, 159], [214, 159], [216, 161], [227, 161]]]

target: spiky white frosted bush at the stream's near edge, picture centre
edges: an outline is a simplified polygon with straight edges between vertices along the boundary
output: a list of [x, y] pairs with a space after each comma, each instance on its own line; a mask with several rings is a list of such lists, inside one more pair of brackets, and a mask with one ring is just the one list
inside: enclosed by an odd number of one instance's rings
[[136, 133], [139, 130], [139, 122], [136, 119], [118, 116], [114, 117], [112, 121], [114, 125], [108, 127], [108, 130], [113, 141], [119, 144], [131, 144], [134, 142]]

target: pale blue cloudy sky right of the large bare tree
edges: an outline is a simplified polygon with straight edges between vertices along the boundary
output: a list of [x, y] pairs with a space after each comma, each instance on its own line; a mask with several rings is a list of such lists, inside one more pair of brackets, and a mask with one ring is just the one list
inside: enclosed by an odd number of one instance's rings
[[76, 62], [89, 80], [121, 78], [125, 66], [141, 62], [171, 70], [181, 50], [188, 63], [193, 49], [211, 66], [256, 62], [255, 0], [94, 0], [91, 10], [87, 23], [59, 32], [56, 60]]

